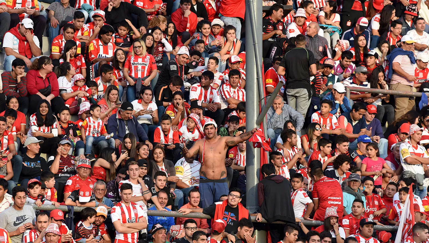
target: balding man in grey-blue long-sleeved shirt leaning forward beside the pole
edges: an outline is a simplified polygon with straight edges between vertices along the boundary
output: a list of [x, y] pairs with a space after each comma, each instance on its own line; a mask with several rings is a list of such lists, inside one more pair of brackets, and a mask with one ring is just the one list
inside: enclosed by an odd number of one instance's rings
[[296, 132], [301, 131], [302, 126], [304, 126], [304, 117], [302, 117], [302, 114], [295, 111], [289, 105], [284, 104], [283, 97], [278, 95], [267, 112], [267, 133], [272, 147], [274, 147], [277, 137], [283, 130], [284, 122], [287, 120], [292, 120], [296, 124]]

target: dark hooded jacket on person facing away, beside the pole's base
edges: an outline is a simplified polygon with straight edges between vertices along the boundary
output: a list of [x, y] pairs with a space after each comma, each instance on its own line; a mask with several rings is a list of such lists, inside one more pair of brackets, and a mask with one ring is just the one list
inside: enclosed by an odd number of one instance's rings
[[281, 175], [267, 176], [258, 183], [259, 212], [269, 223], [275, 221], [295, 223], [290, 190], [289, 180]]

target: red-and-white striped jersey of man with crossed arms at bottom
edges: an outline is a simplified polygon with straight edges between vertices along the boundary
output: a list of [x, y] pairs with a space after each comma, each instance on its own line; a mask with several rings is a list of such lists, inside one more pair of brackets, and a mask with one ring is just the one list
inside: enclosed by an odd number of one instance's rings
[[[112, 207], [110, 211], [112, 222], [135, 223], [145, 217], [144, 208], [141, 204], [130, 202], [127, 206], [122, 201]], [[139, 232], [131, 234], [122, 234], [116, 231], [115, 243], [137, 243], [139, 241]]]

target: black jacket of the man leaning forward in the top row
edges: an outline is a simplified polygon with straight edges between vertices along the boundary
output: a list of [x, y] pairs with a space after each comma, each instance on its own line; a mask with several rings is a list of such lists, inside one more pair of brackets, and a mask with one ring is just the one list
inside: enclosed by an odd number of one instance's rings
[[[118, 8], [112, 8], [112, 11], [108, 11], [109, 7], [104, 9], [106, 12], [106, 22], [112, 25], [113, 29], [118, 29], [119, 23], [125, 18], [131, 18], [131, 14], [137, 15], [139, 29], [141, 26], [148, 27], [148, 16], [143, 9], [134, 6], [131, 3], [121, 2]], [[128, 16], [128, 17], [127, 17]]]

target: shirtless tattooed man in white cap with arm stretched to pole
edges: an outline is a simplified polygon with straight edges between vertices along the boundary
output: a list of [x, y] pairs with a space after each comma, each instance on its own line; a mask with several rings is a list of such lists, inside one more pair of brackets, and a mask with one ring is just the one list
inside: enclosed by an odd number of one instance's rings
[[218, 126], [214, 120], [210, 119], [204, 124], [205, 138], [197, 140], [189, 150], [186, 146], [183, 148], [185, 158], [191, 158], [198, 153], [202, 161], [199, 169], [199, 193], [202, 208], [213, 204], [221, 195], [228, 194], [227, 168], [225, 167], [227, 148], [248, 140], [257, 131], [257, 128], [238, 137], [221, 137], [216, 135], [217, 131]]

